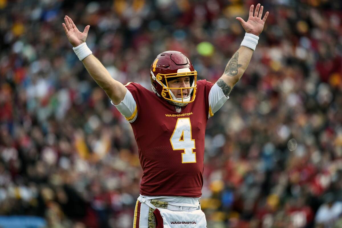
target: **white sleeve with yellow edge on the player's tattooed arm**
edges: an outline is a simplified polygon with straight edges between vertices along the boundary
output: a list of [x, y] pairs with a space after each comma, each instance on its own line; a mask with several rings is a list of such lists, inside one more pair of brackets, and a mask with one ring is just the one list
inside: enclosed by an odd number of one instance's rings
[[214, 113], [219, 110], [222, 105], [229, 99], [225, 96], [218, 84], [214, 84], [209, 92], [209, 113], [208, 118], [212, 117]]

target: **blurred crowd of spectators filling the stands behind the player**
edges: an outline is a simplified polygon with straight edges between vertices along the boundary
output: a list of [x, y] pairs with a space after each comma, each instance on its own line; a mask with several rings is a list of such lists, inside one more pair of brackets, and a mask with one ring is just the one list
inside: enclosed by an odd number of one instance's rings
[[[150, 89], [166, 50], [215, 82], [244, 37], [235, 17], [256, 3], [0, 0], [0, 215], [132, 227], [132, 130], [74, 54], [64, 15], [90, 25], [87, 44], [113, 78]], [[259, 44], [207, 125], [208, 227], [342, 227], [342, 2], [260, 3]]]

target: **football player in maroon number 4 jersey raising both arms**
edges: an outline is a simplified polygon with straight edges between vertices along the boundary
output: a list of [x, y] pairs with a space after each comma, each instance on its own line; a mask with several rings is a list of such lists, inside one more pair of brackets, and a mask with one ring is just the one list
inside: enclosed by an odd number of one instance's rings
[[[130, 122], [138, 146], [143, 176], [133, 227], [206, 227], [199, 197], [203, 185], [204, 138], [207, 120], [229, 98], [245, 72], [268, 12], [250, 6], [240, 48], [215, 83], [197, 80], [191, 61], [177, 51], [160, 53], [150, 67], [152, 91], [138, 83], [114, 80], [92, 55], [86, 38], [70, 17], [63, 28], [74, 51], [111, 103]], [[153, 110], [153, 111], [152, 111]]]

